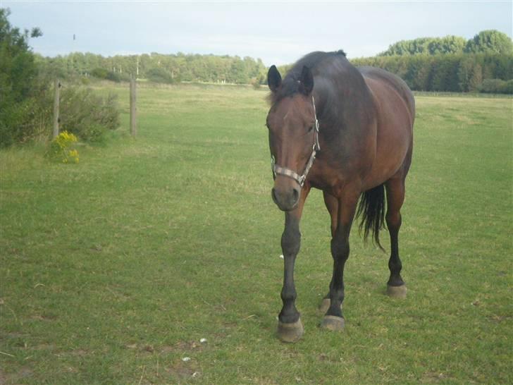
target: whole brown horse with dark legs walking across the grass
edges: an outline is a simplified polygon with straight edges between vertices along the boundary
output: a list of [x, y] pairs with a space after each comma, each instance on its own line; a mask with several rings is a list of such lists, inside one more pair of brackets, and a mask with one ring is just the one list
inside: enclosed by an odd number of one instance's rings
[[285, 212], [278, 336], [293, 342], [303, 334], [295, 307], [294, 264], [301, 239], [299, 220], [312, 187], [323, 190], [331, 216], [333, 276], [321, 305], [326, 310], [321, 326], [344, 327], [343, 273], [355, 214], [362, 216], [365, 238], [370, 231], [378, 245], [386, 219], [392, 249], [387, 293], [405, 297], [397, 234], [404, 179], [412, 161], [415, 102], [400, 78], [378, 68], [355, 68], [343, 51], [312, 52], [297, 61], [283, 80], [271, 66], [268, 86], [272, 197]]

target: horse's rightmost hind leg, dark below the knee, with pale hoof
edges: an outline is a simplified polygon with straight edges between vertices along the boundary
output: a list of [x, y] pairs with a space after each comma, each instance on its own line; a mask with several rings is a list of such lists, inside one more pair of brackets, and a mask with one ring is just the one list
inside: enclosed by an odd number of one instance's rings
[[393, 178], [385, 183], [387, 191], [387, 214], [385, 216], [390, 233], [390, 279], [387, 283], [387, 294], [390, 297], [406, 298], [406, 286], [401, 277], [401, 259], [399, 257], [399, 229], [401, 227], [401, 207], [404, 202], [404, 178]]

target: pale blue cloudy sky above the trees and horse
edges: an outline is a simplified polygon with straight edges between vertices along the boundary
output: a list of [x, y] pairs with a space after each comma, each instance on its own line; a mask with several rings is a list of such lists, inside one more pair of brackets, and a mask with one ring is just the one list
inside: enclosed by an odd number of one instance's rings
[[[310, 51], [374, 56], [416, 37], [481, 30], [512, 37], [513, 1], [6, 1], [11, 25], [39, 27], [44, 56], [216, 54], [293, 63]], [[75, 39], [73, 39], [75, 35]]]

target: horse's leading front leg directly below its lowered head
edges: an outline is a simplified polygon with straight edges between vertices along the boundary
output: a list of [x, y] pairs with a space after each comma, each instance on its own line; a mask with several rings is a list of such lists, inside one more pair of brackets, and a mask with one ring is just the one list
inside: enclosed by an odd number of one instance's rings
[[297, 293], [294, 284], [294, 264], [301, 243], [299, 220], [309, 190], [309, 187], [305, 185], [302, 188], [297, 207], [290, 212], [285, 212], [285, 229], [281, 236], [281, 250], [284, 261], [283, 288], [281, 289], [283, 307], [278, 315], [278, 337], [285, 342], [295, 342], [303, 334], [300, 314], [295, 305]]

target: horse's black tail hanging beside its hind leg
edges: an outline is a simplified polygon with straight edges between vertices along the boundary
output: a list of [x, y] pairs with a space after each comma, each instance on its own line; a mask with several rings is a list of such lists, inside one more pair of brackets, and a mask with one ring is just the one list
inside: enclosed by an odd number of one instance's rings
[[374, 242], [383, 251], [379, 242], [379, 231], [385, 227], [385, 188], [378, 185], [371, 190], [361, 194], [357, 216], [361, 215], [360, 231], [364, 229], [364, 240], [367, 240], [369, 232], [372, 231]]

